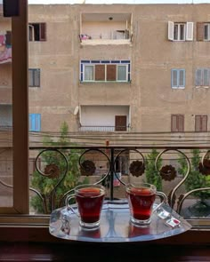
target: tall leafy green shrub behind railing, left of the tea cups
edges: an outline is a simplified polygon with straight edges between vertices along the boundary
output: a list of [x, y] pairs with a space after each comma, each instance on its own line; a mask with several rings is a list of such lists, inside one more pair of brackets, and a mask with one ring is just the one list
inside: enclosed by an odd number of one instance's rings
[[[65, 122], [62, 123], [60, 139], [58, 139], [58, 141], [53, 141], [52, 138], [46, 136], [43, 141], [44, 146], [75, 146], [69, 141], [68, 131], [68, 124]], [[65, 179], [61, 181], [59, 187], [56, 188], [55, 197], [52, 200], [54, 202], [55, 208], [61, 205], [62, 196], [65, 195], [66, 192], [73, 189], [79, 184], [88, 183], [87, 178], [80, 181], [81, 176], [78, 160], [79, 156], [81, 155], [81, 151], [78, 151], [76, 149], [62, 149], [61, 152], [67, 157], [69, 171], [66, 174]], [[49, 177], [46, 177], [40, 175], [37, 171], [35, 171], [31, 179], [31, 186], [41, 193], [44, 198], [45, 206], [47, 208], [46, 211], [50, 212], [52, 190], [61, 180], [67, 166], [63, 156], [56, 151], [44, 152], [41, 155], [41, 162], [45, 167], [45, 171], [48, 168], [50, 171], [54, 170], [54, 172], [52, 173], [52, 175], [50, 172], [48, 172], [47, 175]], [[56, 168], [59, 169], [57, 173]], [[31, 197], [30, 204], [34, 208], [34, 210], [36, 210], [36, 212], [44, 212], [43, 204], [38, 195]]]

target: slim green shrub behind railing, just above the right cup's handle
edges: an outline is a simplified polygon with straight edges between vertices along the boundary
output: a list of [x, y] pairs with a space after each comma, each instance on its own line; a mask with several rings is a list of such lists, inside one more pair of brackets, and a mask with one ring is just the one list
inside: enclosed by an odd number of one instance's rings
[[[145, 157], [145, 175], [147, 183], [155, 185], [159, 191], [162, 191], [162, 179], [159, 176], [158, 170], [156, 169], [156, 158], [158, 151], [153, 148], [151, 153]], [[162, 159], [158, 160], [158, 168], [162, 164]]]

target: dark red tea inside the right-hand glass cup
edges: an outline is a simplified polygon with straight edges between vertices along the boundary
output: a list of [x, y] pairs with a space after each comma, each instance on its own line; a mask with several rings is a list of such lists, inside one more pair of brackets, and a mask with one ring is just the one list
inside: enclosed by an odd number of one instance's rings
[[127, 192], [128, 202], [133, 218], [147, 220], [150, 218], [155, 191], [145, 187], [133, 187]]

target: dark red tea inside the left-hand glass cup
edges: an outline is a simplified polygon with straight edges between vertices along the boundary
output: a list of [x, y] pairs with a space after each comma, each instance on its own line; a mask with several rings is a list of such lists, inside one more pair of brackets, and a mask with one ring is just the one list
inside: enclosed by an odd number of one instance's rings
[[96, 187], [86, 187], [78, 190], [76, 199], [81, 220], [85, 223], [99, 221], [104, 194]]

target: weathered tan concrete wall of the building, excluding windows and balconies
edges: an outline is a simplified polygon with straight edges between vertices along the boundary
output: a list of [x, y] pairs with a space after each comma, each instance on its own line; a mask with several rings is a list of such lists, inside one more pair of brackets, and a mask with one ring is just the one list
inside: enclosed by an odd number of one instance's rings
[[[129, 14], [132, 39], [80, 42], [85, 13], [93, 14], [93, 28], [97, 19], [98, 28], [109, 28], [104, 14]], [[46, 41], [29, 43], [29, 67], [41, 69], [41, 86], [29, 88], [30, 112], [42, 115], [42, 131], [59, 131], [64, 120], [78, 131], [77, 106], [129, 106], [133, 132], [170, 132], [171, 115], [182, 114], [184, 131], [195, 131], [195, 115], [210, 114], [209, 89], [195, 86], [195, 71], [209, 67], [210, 51], [209, 41], [196, 40], [196, 25], [209, 20], [209, 4], [30, 5], [28, 21], [46, 23]], [[168, 21], [193, 22], [193, 40], [168, 40]], [[81, 60], [130, 60], [131, 81], [80, 82]], [[171, 87], [173, 68], [185, 69], [183, 89]]]

